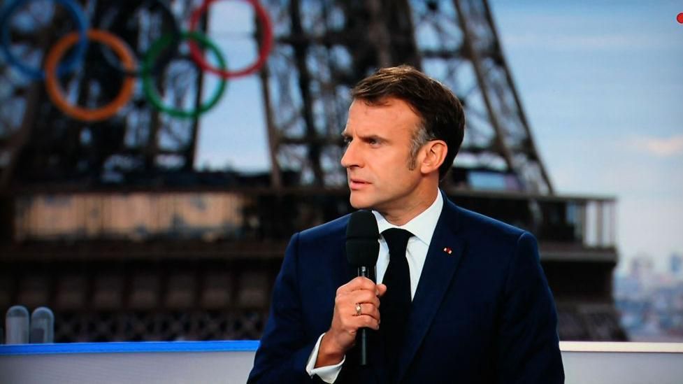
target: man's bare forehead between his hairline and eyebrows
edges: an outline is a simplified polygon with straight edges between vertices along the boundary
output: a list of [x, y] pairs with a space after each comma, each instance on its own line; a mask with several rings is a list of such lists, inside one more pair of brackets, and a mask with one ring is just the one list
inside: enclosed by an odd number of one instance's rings
[[[356, 99], [349, 108], [349, 117], [345, 132], [356, 131], [395, 131], [397, 128], [412, 131], [420, 123], [420, 117], [413, 111], [410, 104], [396, 98], [382, 99], [378, 103], [368, 103], [363, 99]], [[378, 132], [381, 133], [381, 132]]]

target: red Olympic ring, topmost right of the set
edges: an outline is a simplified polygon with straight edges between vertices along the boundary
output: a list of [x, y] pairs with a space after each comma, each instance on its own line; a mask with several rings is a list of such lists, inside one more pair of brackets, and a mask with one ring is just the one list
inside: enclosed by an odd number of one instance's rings
[[[189, 22], [189, 29], [191, 31], [196, 30], [196, 28], [199, 25], [199, 18], [215, 1], [216, 0], [204, 0], [201, 4], [201, 7], [197, 8], [192, 13]], [[199, 65], [199, 67], [204, 71], [216, 73], [218, 76], [221, 76], [222, 78], [233, 78], [254, 73], [261, 69], [261, 66], [264, 66], [264, 64], [266, 64], [268, 53], [271, 51], [271, 48], [273, 47], [273, 26], [271, 24], [271, 19], [268, 17], [268, 13], [266, 12], [266, 10], [261, 6], [261, 4], [257, 0], [245, 1], [247, 1], [247, 3], [250, 3], [254, 7], [254, 11], [256, 12], [257, 17], [259, 17], [259, 20], [261, 20], [261, 24], [263, 24], [263, 36], [261, 38], [261, 49], [259, 50], [258, 59], [256, 60], [256, 62], [254, 62], [254, 64], [251, 64], [250, 66], [235, 71], [216, 69], [213, 66], [210, 66], [208, 62], [206, 62], [206, 59], [204, 59], [201, 51], [199, 50], [199, 48], [197, 48], [196, 44], [190, 42], [189, 48], [190, 52], [192, 53], [192, 59], [194, 59], [197, 65]]]

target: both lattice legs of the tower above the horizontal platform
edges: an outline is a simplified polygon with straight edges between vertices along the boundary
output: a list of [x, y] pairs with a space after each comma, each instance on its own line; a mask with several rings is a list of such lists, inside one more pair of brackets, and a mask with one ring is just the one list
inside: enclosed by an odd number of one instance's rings
[[[173, 14], [187, 20], [198, 4], [174, 1]], [[350, 87], [380, 66], [406, 63], [443, 81], [466, 107], [466, 137], [456, 164], [508, 173], [517, 178], [521, 190], [552, 192], [484, 0], [265, 0], [264, 5], [276, 39], [261, 72], [276, 187], [282, 185], [282, 171], [289, 170], [298, 172], [304, 185], [343, 185], [339, 133]], [[59, 6], [52, 8], [51, 18], [36, 20], [51, 29], [71, 27], [68, 17], [60, 16]], [[87, 9], [94, 25], [127, 12], [126, 22], [111, 29], [129, 43], [134, 41], [134, 49], [149, 48], [164, 30], [161, 13], [154, 8], [136, 10], [136, 2], [97, 3]], [[36, 10], [21, 12], [30, 15]], [[34, 27], [39, 27], [38, 21]], [[23, 33], [20, 27], [13, 27], [13, 41], [27, 52], [25, 59], [37, 57], [39, 62], [54, 39], [24, 41], [24, 35], [33, 36], [35, 31], [28, 28]], [[181, 46], [180, 53], [186, 51]], [[92, 52], [89, 58], [97, 59]], [[199, 102], [201, 72], [188, 63], [182, 57], [175, 60], [155, 80], [164, 99], [175, 106]], [[120, 80], [103, 77], [99, 64], [62, 80], [74, 95], [73, 102], [99, 105], [118, 89]], [[7, 66], [0, 69], [8, 76]], [[136, 171], [192, 169], [197, 121], [154, 111], [139, 90], [135, 102], [115, 118], [84, 123], [52, 108], [44, 92], [38, 92], [38, 101], [25, 104], [27, 84], [6, 83], [11, 89], [3, 87], [0, 93], [7, 101], [0, 107], [3, 180], [12, 178], [17, 167], [21, 178], [34, 181], [69, 180], [83, 173], [107, 180]], [[22, 108], [36, 123], [19, 135], [16, 111]]]

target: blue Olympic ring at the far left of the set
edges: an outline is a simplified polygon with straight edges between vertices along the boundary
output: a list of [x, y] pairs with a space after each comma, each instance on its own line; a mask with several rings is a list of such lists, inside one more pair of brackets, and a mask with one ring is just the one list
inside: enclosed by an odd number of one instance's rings
[[[0, 12], [0, 52], [2, 55], [5, 57], [7, 60], [8, 64], [10, 66], [13, 66], [15, 69], [23, 73], [25, 76], [28, 78], [34, 79], [34, 80], [45, 80], [45, 71], [42, 69], [36, 69], [32, 68], [30, 66], [27, 66], [23, 62], [20, 62], [19, 59], [10, 51], [10, 17], [17, 11], [17, 9], [20, 6], [23, 6], [26, 3], [29, 3], [33, 0], [15, 0], [13, 3], [9, 3], [8, 6], [5, 7]], [[73, 17], [73, 20], [76, 20], [76, 24], [78, 25], [78, 45], [76, 45], [76, 51], [73, 52], [72, 55], [69, 55], [69, 57], [66, 57], [64, 62], [59, 65], [57, 68], [57, 76], [63, 76], [65, 73], [68, 73], [69, 71], [75, 69], [76, 64], [78, 64], [81, 59], [83, 58], [83, 55], [85, 55], [85, 50], [87, 49], [87, 28], [88, 28], [88, 23], [87, 19], [85, 18], [85, 14], [83, 13], [82, 9], [80, 6], [78, 6], [77, 3], [75, 3], [73, 0], [52, 0], [55, 3], [60, 3], [62, 6], [66, 8], [66, 10], [69, 11], [69, 15]]]

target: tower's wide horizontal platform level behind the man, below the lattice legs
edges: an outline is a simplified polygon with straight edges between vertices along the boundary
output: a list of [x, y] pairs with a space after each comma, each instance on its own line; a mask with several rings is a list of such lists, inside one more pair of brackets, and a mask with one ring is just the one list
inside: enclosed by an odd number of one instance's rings
[[[561, 336], [624, 339], [611, 298], [614, 199], [447, 194], [538, 237]], [[257, 338], [289, 237], [353, 210], [347, 190], [310, 188], [43, 191], [7, 201], [0, 308], [54, 308], [57, 341]], [[207, 321], [220, 327], [201, 327]]]

